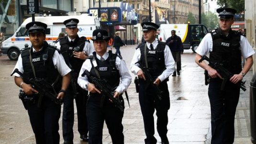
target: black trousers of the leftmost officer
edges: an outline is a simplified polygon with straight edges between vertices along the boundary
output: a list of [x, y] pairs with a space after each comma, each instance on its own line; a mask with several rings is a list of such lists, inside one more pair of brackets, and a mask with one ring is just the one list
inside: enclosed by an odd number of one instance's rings
[[27, 102], [27, 108], [36, 144], [59, 144], [61, 106], [44, 98], [40, 108], [37, 102]]

